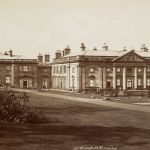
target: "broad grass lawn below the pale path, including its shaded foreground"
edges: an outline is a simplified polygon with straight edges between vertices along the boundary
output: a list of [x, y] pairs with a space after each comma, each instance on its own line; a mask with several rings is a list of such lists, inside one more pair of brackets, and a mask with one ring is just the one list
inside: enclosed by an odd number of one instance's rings
[[32, 95], [47, 124], [0, 124], [0, 150], [150, 149], [150, 114]]

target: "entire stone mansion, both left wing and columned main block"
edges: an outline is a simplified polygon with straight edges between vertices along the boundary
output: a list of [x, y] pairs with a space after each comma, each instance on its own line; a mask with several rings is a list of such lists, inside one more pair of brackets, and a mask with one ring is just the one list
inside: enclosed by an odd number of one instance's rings
[[83, 90], [145, 90], [150, 89], [150, 52], [145, 45], [140, 50], [87, 50], [69, 47], [50, 55], [27, 59], [12, 51], [0, 54], [0, 85], [16, 88], [46, 88], [71, 91]]

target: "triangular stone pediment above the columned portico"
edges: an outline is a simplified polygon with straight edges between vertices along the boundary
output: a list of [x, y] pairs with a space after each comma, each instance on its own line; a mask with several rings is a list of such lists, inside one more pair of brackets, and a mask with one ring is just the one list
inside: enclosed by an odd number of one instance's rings
[[119, 62], [144, 62], [144, 58], [136, 54], [134, 51], [130, 51], [122, 56], [119, 56], [114, 61]]

